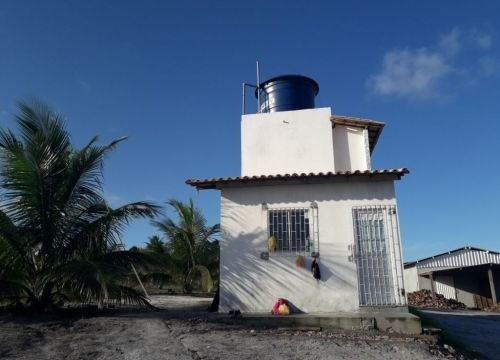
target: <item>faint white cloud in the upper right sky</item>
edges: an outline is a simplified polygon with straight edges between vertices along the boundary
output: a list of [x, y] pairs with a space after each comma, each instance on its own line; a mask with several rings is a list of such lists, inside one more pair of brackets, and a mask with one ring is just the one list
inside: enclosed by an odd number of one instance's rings
[[381, 70], [369, 77], [367, 85], [380, 96], [439, 98], [451, 82], [465, 86], [496, 74], [498, 60], [478, 54], [478, 48], [487, 51], [492, 46], [487, 33], [454, 28], [435, 45], [386, 52]]

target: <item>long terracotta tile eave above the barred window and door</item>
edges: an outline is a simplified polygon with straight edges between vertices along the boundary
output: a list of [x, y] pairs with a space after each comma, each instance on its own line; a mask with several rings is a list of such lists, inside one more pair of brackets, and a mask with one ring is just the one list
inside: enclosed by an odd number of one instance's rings
[[303, 183], [329, 183], [345, 181], [399, 180], [410, 171], [407, 168], [387, 170], [356, 170], [326, 173], [277, 174], [260, 176], [236, 176], [211, 179], [188, 179], [186, 184], [197, 189], [221, 189], [224, 187], [283, 185]]

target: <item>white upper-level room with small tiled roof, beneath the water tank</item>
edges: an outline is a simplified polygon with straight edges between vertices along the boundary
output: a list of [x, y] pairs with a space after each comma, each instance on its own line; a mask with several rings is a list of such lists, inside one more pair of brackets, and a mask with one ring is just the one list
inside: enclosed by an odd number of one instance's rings
[[242, 115], [241, 175], [371, 170], [384, 125], [330, 108]]

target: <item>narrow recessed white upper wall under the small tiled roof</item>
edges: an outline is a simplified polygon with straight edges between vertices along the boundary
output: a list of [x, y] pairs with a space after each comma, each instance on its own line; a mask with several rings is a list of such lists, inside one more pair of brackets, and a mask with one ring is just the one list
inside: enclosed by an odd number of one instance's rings
[[370, 152], [367, 130], [336, 125], [333, 128], [335, 171], [370, 169]]

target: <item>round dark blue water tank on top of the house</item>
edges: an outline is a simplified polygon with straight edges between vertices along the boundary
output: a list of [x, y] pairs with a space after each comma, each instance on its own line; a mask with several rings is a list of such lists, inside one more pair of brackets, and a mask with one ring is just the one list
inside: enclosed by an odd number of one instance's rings
[[316, 81], [302, 75], [277, 76], [259, 85], [260, 112], [314, 109], [314, 98], [318, 95]]

